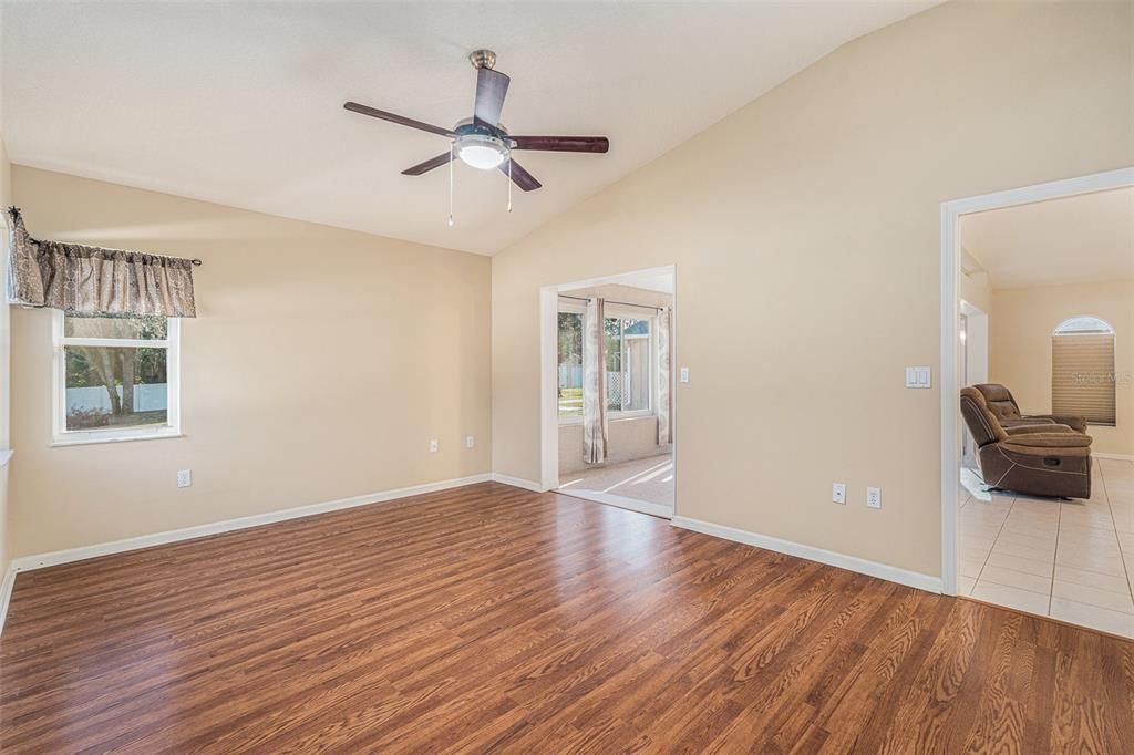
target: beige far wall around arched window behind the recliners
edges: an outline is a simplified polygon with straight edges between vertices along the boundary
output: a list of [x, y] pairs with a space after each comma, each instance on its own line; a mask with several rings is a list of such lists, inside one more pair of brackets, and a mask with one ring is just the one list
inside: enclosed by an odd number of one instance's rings
[[1134, 280], [1038, 286], [992, 291], [989, 379], [1012, 389], [1019, 408], [1051, 412], [1051, 331], [1068, 317], [1092, 315], [1115, 329], [1118, 423], [1092, 426], [1092, 449], [1134, 455]]

